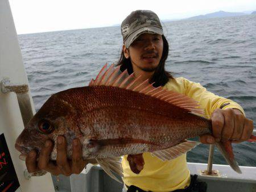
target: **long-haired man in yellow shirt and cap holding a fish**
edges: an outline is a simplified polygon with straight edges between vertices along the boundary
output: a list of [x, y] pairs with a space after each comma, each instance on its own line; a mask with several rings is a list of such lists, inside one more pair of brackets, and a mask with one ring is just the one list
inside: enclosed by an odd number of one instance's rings
[[[235, 140], [237, 142], [249, 139], [253, 131], [253, 122], [246, 119], [243, 109], [236, 102], [218, 97], [202, 87], [200, 84], [188, 81], [185, 78], [173, 78], [164, 70], [168, 56], [168, 42], [163, 35], [163, 28], [158, 16], [152, 11], [137, 10], [131, 12], [121, 25], [123, 48], [118, 65], [121, 70], [127, 69], [135, 76], [142, 75], [142, 79], [150, 79], [154, 86], [164, 86], [187, 95], [198, 101], [205, 113], [212, 119], [213, 136], [204, 135], [200, 141], [213, 144], [215, 141]], [[46, 147], [40, 152], [36, 163], [36, 153], [32, 151], [26, 158], [28, 172], [44, 169], [52, 174], [72, 173], [79, 174], [89, 161], [81, 158], [81, 143], [73, 141], [72, 160], [67, 160], [65, 138], [57, 139], [56, 164], [49, 161], [53, 144], [46, 142]], [[139, 174], [130, 170], [127, 157], [123, 158], [123, 181], [129, 191], [189, 191], [191, 177], [187, 168], [186, 156], [182, 155], [175, 160], [161, 161], [149, 153], [143, 154], [144, 169]], [[95, 161], [90, 161], [95, 162]]]

